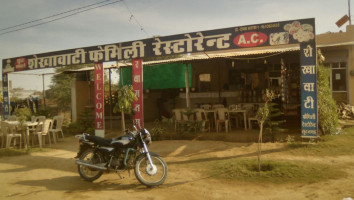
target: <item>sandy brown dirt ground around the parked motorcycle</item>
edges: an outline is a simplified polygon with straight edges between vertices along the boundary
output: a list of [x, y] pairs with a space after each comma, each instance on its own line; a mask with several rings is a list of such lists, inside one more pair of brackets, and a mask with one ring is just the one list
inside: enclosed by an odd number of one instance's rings
[[[282, 144], [263, 146], [264, 158], [311, 160], [325, 163], [353, 164], [353, 156], [338, 158], [291, 157]], [[354, 197], [354, 166], [348, 176], [312, 184], [255, 184], [209, 177], [189, 163], [208, 159], [256, 156], [253, 143], [218, 141], [156, 141], [150, 150], [168, 163], [166, 182], [156, 188], [141, 185], [132, 172], [104, 174], [93, 183], [83, 181], [74, 164], [78, 141], [66, 137], [53, 150], [31, 155], [0, 158], [0, 199], [321, 199]], [[187, 166], [188, 165], [188, 166]], [[193, 165], [192, 165], [193, 166]]]

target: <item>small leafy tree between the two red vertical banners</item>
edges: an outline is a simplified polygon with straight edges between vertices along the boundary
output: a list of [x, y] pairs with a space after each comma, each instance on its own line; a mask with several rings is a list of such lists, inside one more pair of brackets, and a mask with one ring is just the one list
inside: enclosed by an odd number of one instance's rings
[[138, 98], [135, 96], [133, 91], [133, 86], [125, 85], [118, 89], [118, 102], [113, 108], [113, 112], [121, 112], [122, 118], [122, 131], [125, 130], [125, 120], [124, 113], [132, 114], [133, 101], [136, 101]]

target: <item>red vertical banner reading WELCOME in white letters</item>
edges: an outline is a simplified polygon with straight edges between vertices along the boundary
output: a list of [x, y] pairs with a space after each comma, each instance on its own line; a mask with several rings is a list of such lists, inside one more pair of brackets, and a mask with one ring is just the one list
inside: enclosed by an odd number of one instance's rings
[[95, 135], [104, 137], [104, 69], [95, 63]]

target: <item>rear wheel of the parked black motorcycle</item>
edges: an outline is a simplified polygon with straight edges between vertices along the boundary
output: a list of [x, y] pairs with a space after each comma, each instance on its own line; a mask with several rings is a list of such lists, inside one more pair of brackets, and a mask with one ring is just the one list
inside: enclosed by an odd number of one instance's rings
[[[84, 151], [80, 156], [80, 160], [93, 165], [103, 162], [102, 156], [100, 154], [95, 153], [93, 149], [87, 149], [86, 151]], [[103, 174], [103, 172], [100, 170], [83, 166], [83, 165], [78, 165], [77, 169], [79, 171], [81, 178], [90, 182], [98, 179]]]

